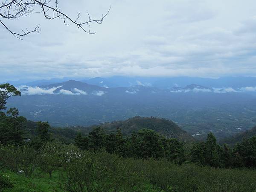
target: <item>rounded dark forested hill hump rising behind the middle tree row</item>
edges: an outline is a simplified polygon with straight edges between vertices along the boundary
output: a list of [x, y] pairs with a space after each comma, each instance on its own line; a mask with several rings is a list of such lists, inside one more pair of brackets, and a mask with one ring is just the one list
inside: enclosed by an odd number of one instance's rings
[[90, 126], [90, 129], [96, 126], [101, 127], [103, 130], [110, 133], [114, 133], [116, 132], [116, 128], [120, 128], [124, 135], [131, 134], [133, 131], [136, 132], [140, 129], [147, 128], [152, 129], [167, 138], [177, 138], [181, 141], [194, 140], [194, 138], [189, 133], [181, 129], [174, 122], [156, 117], [135, 116], [124, 121], [114, 121], [101, 125], [93, 125]]

